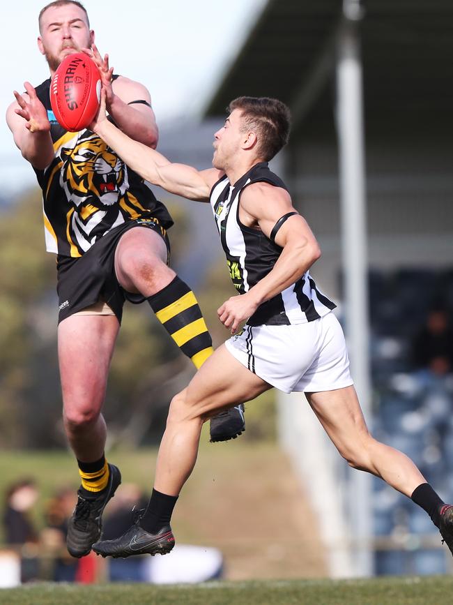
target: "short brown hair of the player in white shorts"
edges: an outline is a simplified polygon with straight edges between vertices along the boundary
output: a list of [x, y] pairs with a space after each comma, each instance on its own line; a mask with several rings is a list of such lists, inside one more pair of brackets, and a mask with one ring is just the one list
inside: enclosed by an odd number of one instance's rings
[[289, 139], [291, 114], [281, 100], [268, 97], [240, 96], [227, 107], [230, 114], [241, 110], [243, 128], [256, 130], [257, 152], [266, 161], [272, 160]]

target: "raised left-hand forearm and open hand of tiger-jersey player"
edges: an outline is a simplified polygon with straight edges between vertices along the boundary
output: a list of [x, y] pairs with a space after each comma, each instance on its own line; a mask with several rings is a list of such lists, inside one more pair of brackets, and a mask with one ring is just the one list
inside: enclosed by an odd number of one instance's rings
[[26, 94], [14, 92], [16, 101], [6, 112], [6, 122], [22, 156], [33, 167], [44, 170], [54, 159], [47, 111], [36, 96], [35, 89], [25, 83]]

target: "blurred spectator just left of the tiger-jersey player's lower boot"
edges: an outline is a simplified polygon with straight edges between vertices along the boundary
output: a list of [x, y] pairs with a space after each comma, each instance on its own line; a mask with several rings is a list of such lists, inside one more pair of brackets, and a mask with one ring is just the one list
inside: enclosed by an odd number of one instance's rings
[[46, 526], [41, 532], [41, 544], [54, 558], [52, 579], [56, 582], [73, 582], [77, 576], [79, 560], [66, 550], [68, 519], [76, 502], [74, 489], [63, 488], [49, 500], [45, 509]]

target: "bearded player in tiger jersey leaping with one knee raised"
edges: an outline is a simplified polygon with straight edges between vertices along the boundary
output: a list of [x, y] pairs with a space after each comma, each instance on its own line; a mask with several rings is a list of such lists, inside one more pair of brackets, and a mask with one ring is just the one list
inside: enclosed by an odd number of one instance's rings
[[[38, 22], [38, 48], [51, 77], [68, 54], [90, 49], [110, 119], [133, 140], [155, 148], [158, 126], [148, 90], [112, 75], [82, 3], [49, 3]], [[194, 293], [168, 266], [169, 212], [102, 138], [89, 128], [72, 133], [58, 124], [49, 87], [50, 78], [36, 88], [26, 82], [6, 119], [43, 190], [46, 248], [57, 255], [63, 419], [81, 477], [68, 551], [82, 557], [100, 537], [102, 511], [121, 482], [118, 468], [105, 459], [101, 409], [125, 300], [148, 301], [197, 368], [213, 348]], [[238, 405], [213, 419], [211, 440], [235, 438], [244, 426]]]

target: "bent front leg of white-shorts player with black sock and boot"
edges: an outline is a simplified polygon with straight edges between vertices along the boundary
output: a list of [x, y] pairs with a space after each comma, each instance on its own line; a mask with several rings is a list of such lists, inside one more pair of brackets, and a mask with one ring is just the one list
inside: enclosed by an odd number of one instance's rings
[[135, 525], [114, 540], [98, 541], [93, 551], [103, 556], [129, 557], [165, 553], [174, 544], [170, 522], [178, 494], [197, 461], [201, 428], [217, 410], [235, 401], [249, 401], [270, 389], [222, 345], [171, 401], [160, 442], [155, 488]]

